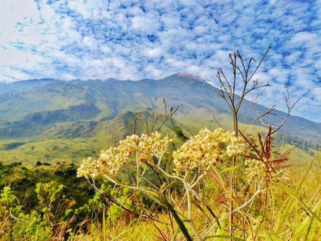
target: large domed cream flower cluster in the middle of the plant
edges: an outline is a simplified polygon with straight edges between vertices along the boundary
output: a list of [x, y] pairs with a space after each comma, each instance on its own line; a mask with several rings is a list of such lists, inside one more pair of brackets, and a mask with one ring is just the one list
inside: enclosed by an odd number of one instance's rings
[[235, 133], [223, 128], [214, 131], [202, 129], [198, 135], [191, 137], [173, 152], [176, 171], [215, 166], [225, 155], [222, 147], [226, 147], [226, 155], [230, 157], [247, 153], [244, 139], [235, 137]]

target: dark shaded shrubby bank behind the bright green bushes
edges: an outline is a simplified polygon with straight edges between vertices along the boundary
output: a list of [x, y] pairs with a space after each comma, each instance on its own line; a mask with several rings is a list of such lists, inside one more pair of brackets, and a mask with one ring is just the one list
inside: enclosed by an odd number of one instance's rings
[[0, 163], [0, 188], [11, 186], [15, 196], [22, 200], [25, 210], [39, 207], [36, 189], [37, 183], [55, 181], [63, 184], [63, 194], [77, 200], [77, 206], [84, 205], [94, 191], [88, 187], [86, 180], [75, 177], [73, 164], [61, 163], [52, 166], [24, 167], [21, 164]]

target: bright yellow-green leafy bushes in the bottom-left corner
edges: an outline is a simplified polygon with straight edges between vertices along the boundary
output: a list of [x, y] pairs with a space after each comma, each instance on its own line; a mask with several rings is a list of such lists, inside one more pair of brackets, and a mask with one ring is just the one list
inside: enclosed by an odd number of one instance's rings
[[[54, 181], [37, 183], [34, 191], [39, 206], [33, 210], [25, 210], [19, 205], [18, 198], [10, 186], [4, 187], [1, 191], [2, 240], [21, 240], [22, 237], [24, 240], [62, 240], [86, 230], [86, 227], [81, 230], [77, 228], [84, 217], [87, 217], [86, 211], [84, 208], [76, 208], [74, 199], [66, 197], [63, 185]], [[93, 205], [93, 202], [89, 202], [89, 205]]]

